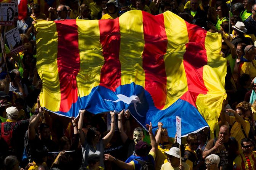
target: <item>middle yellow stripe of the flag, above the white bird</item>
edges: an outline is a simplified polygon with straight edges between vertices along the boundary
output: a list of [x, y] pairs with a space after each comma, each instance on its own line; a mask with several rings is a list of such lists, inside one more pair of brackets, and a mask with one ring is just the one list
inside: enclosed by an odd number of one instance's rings
[[[121, 85], [134, 82], [145, 86], [145, 71], [142, 68], [144, 34], [142, 11], [134, 10], [134, 17], [124, 15], [119, 18], [121, 43], [119, 60], [121, 63]], [[136, 70], [136, 71], [134, 71]]]

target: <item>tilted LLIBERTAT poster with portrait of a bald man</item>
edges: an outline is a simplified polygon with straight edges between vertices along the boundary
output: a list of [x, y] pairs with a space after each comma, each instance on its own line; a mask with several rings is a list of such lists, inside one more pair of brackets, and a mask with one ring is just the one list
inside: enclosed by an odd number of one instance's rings
[[11, 50], [11, 54], [14, 54], [15, 52], [19, 52], [23, 49], [21, 36], [19, 35], [19, 30], [17, 27], [6, 32], [5, 36], [8, 42], [8, 47]]

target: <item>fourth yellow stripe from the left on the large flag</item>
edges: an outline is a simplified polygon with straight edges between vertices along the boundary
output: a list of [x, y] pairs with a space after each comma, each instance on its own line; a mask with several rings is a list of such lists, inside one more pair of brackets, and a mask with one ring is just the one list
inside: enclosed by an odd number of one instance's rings
[[[163, 13], [163, 16], [168, 44], [166, 54], [163, 56], [167, 76], [167, 96], [162, 110], [171, 106], [188, 91], [183, 55], [186, 52], [185, 44], [189, 42], [184, 20], [167, 11]], [[179, 29], [176, 29], [176, 25], [179, 25]]]

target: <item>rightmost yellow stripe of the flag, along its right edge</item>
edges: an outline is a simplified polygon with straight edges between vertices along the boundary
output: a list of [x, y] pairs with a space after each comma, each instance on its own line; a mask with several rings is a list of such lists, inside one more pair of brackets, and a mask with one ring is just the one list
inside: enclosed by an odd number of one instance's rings
[[[216, 41], [216, 38], [219, 41]], [[208, 89], [207, 94], [199, 94], [196, 105], [198, 111], [205, 118], [212, 132], [214, 132], [216, 120], [221, 113], [222, 102], [226, 99], [224, 89], [227, 62], [220, 54], [221, 34], [207, 32], [205, 38], [207, 65], [203, 67], [203, 81]], [[211, 108], [211, 109], [209, 109]]]

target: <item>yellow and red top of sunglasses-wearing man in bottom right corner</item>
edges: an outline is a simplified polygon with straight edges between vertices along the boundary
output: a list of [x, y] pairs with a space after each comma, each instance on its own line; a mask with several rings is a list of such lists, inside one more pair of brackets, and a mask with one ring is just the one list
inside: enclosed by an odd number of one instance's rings
[[245, 154], [238, 155], [233, 162], [233, 170], [243, 170], [243, 166], [245, 167], [246, 170], [255, 169], [255, 164], [256, 164], [256, 162], [254, 162], [255, 158], [256, 158], [255, 151], [253, 151], [253, 153], [251, 153], [250, 155], [246, 155], [246, 156]]

